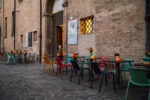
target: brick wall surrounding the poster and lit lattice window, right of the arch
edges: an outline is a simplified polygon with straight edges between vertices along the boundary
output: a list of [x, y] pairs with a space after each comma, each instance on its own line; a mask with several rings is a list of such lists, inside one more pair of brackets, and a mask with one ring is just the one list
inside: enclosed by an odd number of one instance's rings
[[[144, 3], [143, 0], [68, 0], [65, 25], [70, 16], [78, 20], [78, 44], [68, 45], [68, 52], [87, 55], [86, 48], [92, 46], [96, 56], [113, 57], [114, 53], [120, 53], [122, 58], [140, 60], [145, 51]], [[80, 35], [80, 18], [90, 15], [95, 17], [95, 31]]]

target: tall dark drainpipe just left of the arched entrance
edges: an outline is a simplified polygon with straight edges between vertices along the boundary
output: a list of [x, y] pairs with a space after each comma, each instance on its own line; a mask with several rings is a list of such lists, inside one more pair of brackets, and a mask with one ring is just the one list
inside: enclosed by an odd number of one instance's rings
[[42, 0], [40, 0], [40, 62], [42, 62]]

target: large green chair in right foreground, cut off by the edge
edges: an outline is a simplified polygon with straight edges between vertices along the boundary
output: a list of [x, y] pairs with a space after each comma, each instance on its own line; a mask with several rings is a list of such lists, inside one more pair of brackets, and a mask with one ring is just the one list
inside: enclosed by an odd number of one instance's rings
[[[126, 96], [125, 100], [128, 99], [128, 91], [130, 87], [130, 83], [137, 85], [137, 86], [150, 86], [150, 79], [147, 78], [146, 71], [150, 71], [148, 69], [142, 69], [142, 68], [129, 68], [130, 72], [130, 79], [128, 81], [128, 86], [127, 86], [127, 91], [126, 91]], [[149, 96], [148, 100], [150, 100], [150, 90], [149, 90]]]

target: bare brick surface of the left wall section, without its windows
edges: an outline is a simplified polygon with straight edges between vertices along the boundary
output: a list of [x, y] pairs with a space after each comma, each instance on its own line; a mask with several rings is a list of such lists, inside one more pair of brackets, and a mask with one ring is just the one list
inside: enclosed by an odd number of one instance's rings
[[[16, 49], [28, 50], [30, 53], [39, 53], [39, 29], [40, 29], [40, 0], [23, 0], [19, 3], [16, 0]], [[12, 11], [14, 0], [7, 0], [4, 3], [4, 17], [7, 17], [7, 38], [4, 48], [6, 51], [14, 49], [14, 37], [12, 34]], [[25, 47], [25, 33], [37, 31], [37, 41], [32, 42], [32, 47]], [[21, 35], [24, 41], [21, 44]]]

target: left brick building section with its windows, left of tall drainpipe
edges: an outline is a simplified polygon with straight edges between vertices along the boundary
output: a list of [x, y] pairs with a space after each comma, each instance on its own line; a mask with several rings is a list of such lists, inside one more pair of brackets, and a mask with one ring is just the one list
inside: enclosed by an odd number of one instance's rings
[[[2, 0], [1, 49], [6, 52], [23, 49], [39, 54], [39, 0], [16, 0], [15, 4], [16, 10], [14, 10], [14, 0]], [[32, 36], [29, 36], [29, 33], [32, 33]]]

